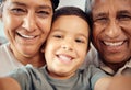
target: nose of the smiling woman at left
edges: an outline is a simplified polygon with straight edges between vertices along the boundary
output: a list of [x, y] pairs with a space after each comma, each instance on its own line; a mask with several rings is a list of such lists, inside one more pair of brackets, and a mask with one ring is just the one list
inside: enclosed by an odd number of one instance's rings
[[28, 32], [33, 32], [37, 29], [35, 13], [28, 13], [23, 20], [23, 27]]

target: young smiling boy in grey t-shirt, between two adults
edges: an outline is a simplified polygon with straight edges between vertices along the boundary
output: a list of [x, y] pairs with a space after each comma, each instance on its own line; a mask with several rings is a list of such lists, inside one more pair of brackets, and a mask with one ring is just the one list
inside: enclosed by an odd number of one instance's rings
[[[78, 69], [84, 61], [90, 42], [86, 14], [79, 8], [56, 11], [52, 29], [43, 48], [47, 65], [26, 66], [1, 78], [2, 90], [106, 90], [110, 78], [94, 66]], [[105, 77], [105, 78], [104, 78]], [[2, 82], [3, 81], [3, 82]]]

